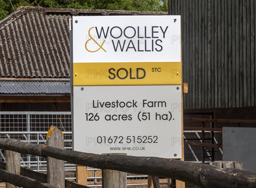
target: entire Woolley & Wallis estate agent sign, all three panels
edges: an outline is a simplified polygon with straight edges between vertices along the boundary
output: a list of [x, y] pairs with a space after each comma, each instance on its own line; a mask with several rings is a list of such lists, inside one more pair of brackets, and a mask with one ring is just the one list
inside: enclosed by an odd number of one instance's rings
[[73, 17], [73, 148], [181, 158], [180, 16]]

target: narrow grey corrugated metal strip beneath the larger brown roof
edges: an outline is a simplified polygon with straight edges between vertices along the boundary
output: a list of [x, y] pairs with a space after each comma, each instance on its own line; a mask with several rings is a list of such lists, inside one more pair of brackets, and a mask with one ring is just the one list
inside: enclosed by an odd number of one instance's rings
[[0, 81], [0, 95], [70, 94], [69, 81]]

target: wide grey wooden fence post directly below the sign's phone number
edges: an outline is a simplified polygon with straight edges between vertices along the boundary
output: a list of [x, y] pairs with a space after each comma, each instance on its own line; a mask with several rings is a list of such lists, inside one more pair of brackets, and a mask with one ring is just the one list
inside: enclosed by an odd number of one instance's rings
[[[102, 155], [127, 155], [126, 153], [104, 153]], [[108, 169], [102, 170], [102, 188], [126, 188], [127, 173], [113, 171]]]

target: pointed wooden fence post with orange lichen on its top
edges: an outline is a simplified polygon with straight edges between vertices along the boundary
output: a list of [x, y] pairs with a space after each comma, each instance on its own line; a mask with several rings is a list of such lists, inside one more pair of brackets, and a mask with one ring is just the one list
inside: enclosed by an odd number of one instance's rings
[[[47, 146], [64, 149], [63, 133], [57, 127], [51, 126], [46, 136]], [[65, 188], [64, 161], [47, 157], [47, 183], [56, 188]]]

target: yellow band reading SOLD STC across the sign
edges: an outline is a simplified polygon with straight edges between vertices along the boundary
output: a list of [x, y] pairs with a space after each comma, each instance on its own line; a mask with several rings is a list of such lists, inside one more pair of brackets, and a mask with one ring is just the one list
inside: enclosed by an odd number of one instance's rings
[[74, 63], [74, 86], [180, 85], [180, 62]]

